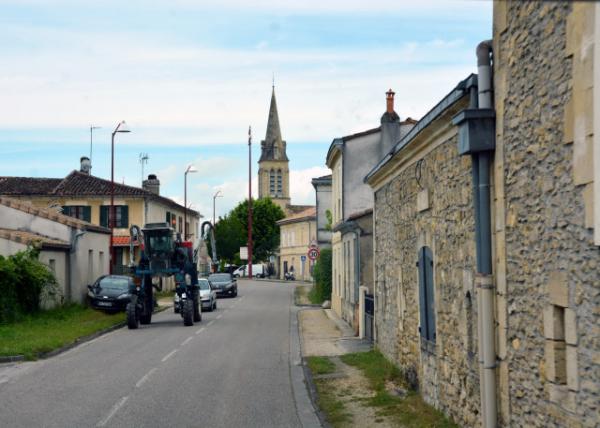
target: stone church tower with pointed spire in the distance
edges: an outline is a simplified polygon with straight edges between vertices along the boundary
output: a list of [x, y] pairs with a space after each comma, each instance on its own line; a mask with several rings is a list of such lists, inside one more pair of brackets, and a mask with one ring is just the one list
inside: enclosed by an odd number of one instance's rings
[[267, 134], [260, 142], [260, 159], [258, 160], [258, 197], [269, 197], [273, 202], [288, 212], [290, 205], [290, 169], [286, 154], [286, 143], [281, 138], [279, 114], [275, 100], [275, 86], [271, 94]]

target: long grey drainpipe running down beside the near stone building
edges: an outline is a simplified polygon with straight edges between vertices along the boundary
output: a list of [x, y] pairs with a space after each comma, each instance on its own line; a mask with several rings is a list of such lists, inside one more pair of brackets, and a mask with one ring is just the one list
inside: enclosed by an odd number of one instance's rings
[[[491, 68], [492, 41], [485, 40], [477, 46], [478, 70], [478, 104], [481, 109], [493, 108], [492, 101], [492, 68]], [[496, 398], [496, 352], [494, 337], [494, 286], [492, 279], [492, 231], [490, 212], [490, 161], [492, 152], [478, 153], [477, 164], [479, 183], [476, 188], [478, 193], [478, 206], [475, 206], [476, 215], [479, 216], [479, 243], [477, 263], [477, 287], [480, 318], [480, 361], [483, 359], [484, 389], [482, 397], [483, 425], [494, 428], [497, 424], [497, 398]], [[479, 211], [479, 212], [477, 212]], [[477, 233], [476, 233], [477, 234]], [[483, 358], [482, 358], [483, 357]]]

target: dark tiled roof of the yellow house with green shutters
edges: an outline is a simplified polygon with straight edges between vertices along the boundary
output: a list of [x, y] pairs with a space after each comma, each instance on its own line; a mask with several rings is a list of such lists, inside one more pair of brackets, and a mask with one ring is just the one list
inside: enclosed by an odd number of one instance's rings
[[[32, 177], [0, 177], [0, 195], [26, 196], [46, 195], [56, 197], [85, 197], [85, 196], [109, 196], [111, 193], [111, 181], [80, 171], [72, 171], [65, 178], [32, 178]], [[115, 182], [115, 196], [149, 198], [169, 207], [183, 210], [172, 199], [157, 195], [141, 187], [128, 186]], [[200, 216], [198, 211], [188, 209], [189, 215]]]

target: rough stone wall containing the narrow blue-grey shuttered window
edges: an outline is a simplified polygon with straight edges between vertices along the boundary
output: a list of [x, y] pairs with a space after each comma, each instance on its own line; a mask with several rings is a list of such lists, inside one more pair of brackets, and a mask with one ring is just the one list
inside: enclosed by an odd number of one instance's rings
[[[417, 374], [426, 401], [459, 424], [475, 426], [480, 399], [471, 161], [458, 155], [456, 130], [423, 144], [433, 149], [408, 160], [375, 193], [376, 342], [407, 374]], [[433, 252], [433, 345], [419, 333], [416, 262], [422, 246]]]

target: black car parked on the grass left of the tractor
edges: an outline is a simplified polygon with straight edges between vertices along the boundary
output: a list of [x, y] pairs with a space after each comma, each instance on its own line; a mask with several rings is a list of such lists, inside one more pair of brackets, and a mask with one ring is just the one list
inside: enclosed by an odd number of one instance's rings
[[124, 311], [131, 300], [129, 290], [134, 287], [133, 278], [124, 275], [104, 275], [88, 285], [90, 306], [107, 312]]

